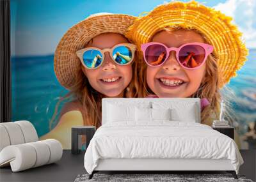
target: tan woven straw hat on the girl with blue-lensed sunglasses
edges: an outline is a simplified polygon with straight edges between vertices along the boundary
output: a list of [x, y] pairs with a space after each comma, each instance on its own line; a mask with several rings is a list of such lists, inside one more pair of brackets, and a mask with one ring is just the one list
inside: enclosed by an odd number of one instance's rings
[[99, 34], [125, 34], [135, 19], [131, 15], [96, 13], [68, 29], [54, 53], [54, 72], [60, 84], [67, 89], [74, 84], [76, 72], [81, 66], [77, 50], [83, 49]]

